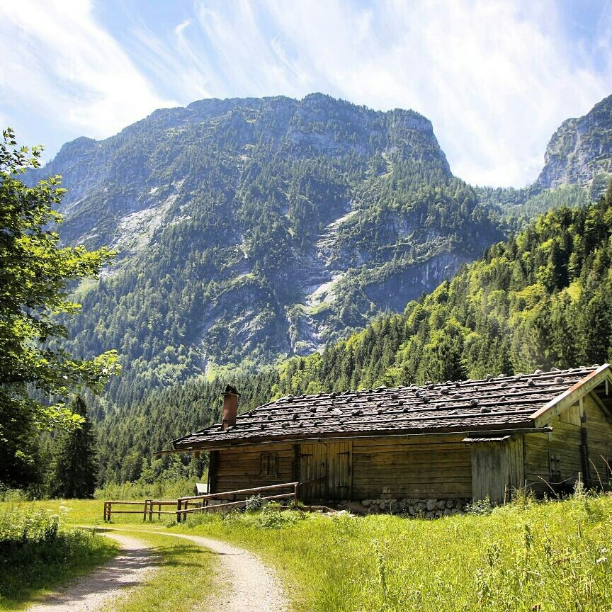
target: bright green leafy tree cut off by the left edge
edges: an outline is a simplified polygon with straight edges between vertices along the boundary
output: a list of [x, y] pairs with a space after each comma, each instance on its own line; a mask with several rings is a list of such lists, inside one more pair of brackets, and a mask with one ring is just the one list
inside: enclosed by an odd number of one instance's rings
[[0, 144], [0, 482], [25, 486], [35, 478], [33, 439], [40, 429], [71, 429], [83, 418], [65, 406], [81, 386], [101, 390], [117, 371], [114, 351], [93, 359], [60, 344], [60, 321], [79, 305], [69, 285], [97, 276], [113, 253], [61, 246], [60, 177], [28, 187], [18, 175], [35, 168], [40, 147], [18, 147], [13, 131]]

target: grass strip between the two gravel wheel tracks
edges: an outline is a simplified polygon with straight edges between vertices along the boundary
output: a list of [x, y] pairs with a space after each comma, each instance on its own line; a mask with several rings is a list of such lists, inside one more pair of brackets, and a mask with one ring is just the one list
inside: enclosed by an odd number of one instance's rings
[[147, 542], [159, 559], [159, 570], [145, 584], [115, 601], [112, 612], [191, 610], [211, 593], [216, 561], [207, 549], [188, 540], [144, 533], [140, 528], [117, 531]]

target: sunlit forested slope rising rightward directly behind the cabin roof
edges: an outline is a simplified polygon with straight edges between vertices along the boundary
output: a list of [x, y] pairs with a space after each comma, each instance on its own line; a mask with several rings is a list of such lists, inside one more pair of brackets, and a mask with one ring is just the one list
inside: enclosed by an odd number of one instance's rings
[[603, 363], [611, 348], [612, 187], [586, 208], [538, 217], [402, 314], [379, 317], [320, 354], [259, 375], [169, 387], [108, 414], [98, 424], [101, 477], [159, 474], [176, 458], [154, 460], [151, 469], [150, 453], [217, 419], [229, 380], [246, 410], [288, 393]]

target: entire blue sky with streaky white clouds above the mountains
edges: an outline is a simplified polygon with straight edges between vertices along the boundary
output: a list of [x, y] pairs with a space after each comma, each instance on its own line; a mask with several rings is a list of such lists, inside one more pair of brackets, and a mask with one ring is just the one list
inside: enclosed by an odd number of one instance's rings
[[5, 0], [0, 123], [52, 157], [156, 108], [312, 91], [433, 122], [453, 173], [523, 186], [612, 94], [612, 1]]

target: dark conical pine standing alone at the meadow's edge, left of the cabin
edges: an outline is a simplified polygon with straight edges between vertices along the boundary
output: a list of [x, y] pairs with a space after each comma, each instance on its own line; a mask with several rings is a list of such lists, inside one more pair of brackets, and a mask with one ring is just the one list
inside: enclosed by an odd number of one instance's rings
[[97, 477], [96, 437], [86, 404], [79, 395], [72, 410], [85, 420], [80, 429], [61, 434], [55, 451], [51, 494], [66, 499], [93, 497]]

